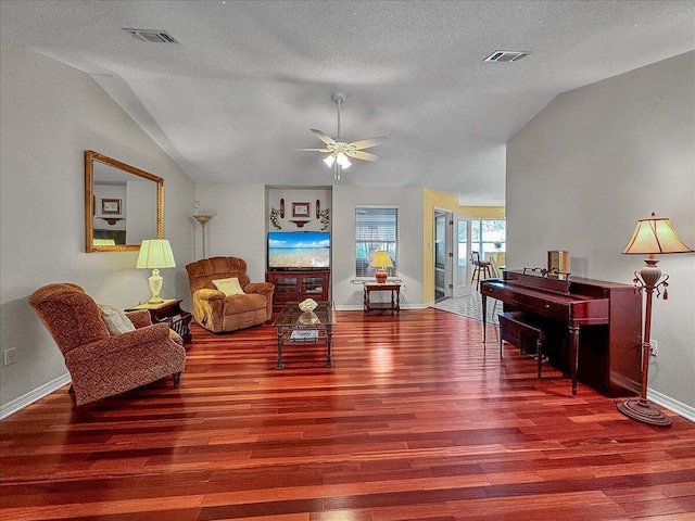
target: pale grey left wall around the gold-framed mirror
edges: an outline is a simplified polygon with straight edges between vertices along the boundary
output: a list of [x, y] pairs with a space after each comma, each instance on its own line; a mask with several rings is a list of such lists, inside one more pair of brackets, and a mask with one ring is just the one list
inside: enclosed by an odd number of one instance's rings
[[16, 350], [16, 363], [0, 367], [5, 406], [66, 373], [28, 305], [37, 288], [75, 282], [121, 308], [150, 295], [137, 252], [84, 253], [84, 151], [164, 178], [164, 231], [177, 267], [162, 270], [162, 295], [188, 303], [194, 187], [86, 74], [0, 40], [0, 344]]

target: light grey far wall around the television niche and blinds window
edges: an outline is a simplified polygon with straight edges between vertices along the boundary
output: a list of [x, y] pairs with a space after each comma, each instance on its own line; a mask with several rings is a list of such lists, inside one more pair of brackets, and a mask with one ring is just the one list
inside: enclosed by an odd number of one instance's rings
[[[332, 203], [328, 190], [268, 189], [262, 185], [198, 183], [197, 198], [200, 213], [215, 217], [205, 227], [207, 256], [233, 255], [247, 260], [252, 281], [265, 280], [266, 231], [269, 224], [269, 206], [278, 207], [280, 194], [286, 195], [287, 223], [293, 201], [311, 201], [312, 214], [316, 199], [321, 207], [330, 207], [331, 230], [331, 288], [332, 298], [339, 309], [362, 309], [362, 285], [355, 278], [355, 206], [361, 204], [396, 205], [400, 208], [399, 277], [404, 281], [404, 306], [422, 305], [422, 189], [420, 188], [359, 188], [332, 187]], [[329, 206], [332, 204], [332, 207]], [[303, 229], [319, 229], [312, 215], [312, 225]], [[198, 225], [197, 225], [198, 226]], [[197, 230], [197, 258], [202, 258], [200, 226]], [[258, 259], [257, 263], [252, 259]]]

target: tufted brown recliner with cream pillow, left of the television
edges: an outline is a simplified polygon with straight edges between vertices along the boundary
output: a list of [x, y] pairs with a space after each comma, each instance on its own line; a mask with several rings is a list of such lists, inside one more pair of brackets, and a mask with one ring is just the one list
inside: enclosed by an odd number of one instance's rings
[[[273, 316], [269, 282], [250, 282], [247, 263], [238, 257], [203, 258], [186, 266], [193, 297], [193, 318], [213, 333], [250, 328]], [[227, 296], [213, 281], [237, 278], [243, 293]]]

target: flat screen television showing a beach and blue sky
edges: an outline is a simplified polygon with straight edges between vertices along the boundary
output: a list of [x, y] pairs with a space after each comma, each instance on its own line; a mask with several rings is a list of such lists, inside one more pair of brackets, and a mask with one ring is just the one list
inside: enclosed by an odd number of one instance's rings
[[321, 269], [330, 267], [328, 231], [269, 231], [268, 269]]

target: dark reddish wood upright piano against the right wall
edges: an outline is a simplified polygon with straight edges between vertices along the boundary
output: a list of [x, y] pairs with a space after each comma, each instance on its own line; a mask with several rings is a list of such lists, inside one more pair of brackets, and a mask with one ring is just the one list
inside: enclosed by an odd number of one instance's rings
[[560, 280], [525, 270], [483, 280], [480, 291], [483, 342], [486, 300], [496, 298], [505, 312], [533, 314], [541, 321], [546, 346], [555, 352], [551, 361], [569, 372], [572, 394], [578, 380], [606, 396], [639, 394], [642, 298], [632, 285], [576, 277]]

